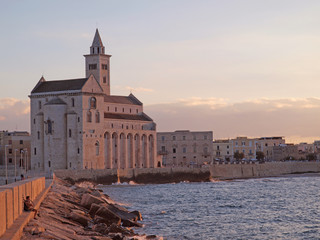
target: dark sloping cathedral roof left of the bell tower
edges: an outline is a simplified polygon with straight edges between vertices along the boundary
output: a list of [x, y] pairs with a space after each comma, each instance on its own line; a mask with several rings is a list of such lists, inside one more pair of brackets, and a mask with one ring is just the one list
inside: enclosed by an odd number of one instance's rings
[[88, 78], [39, 82], [31, 93], [81, 90]]

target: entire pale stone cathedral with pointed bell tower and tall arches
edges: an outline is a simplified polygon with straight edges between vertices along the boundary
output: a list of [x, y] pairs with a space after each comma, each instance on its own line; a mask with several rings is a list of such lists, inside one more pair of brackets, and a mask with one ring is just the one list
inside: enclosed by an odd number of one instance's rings
[[85, 78], [47, 81], [31, 91], [31, 169], [160, 166], [156, 124], [133, 95], [110, 94], [110, 58], [96, 30]]

